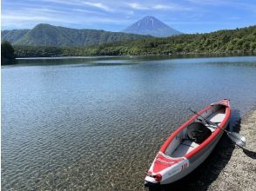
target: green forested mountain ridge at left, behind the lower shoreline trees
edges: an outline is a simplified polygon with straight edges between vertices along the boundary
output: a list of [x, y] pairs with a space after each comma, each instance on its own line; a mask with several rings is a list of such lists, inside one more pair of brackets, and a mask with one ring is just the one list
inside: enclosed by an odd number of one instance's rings
[[37, 24], [32, 30], [3, 30], [1, 34], [2, 41], [31, 46], [88, 46], [150, 37], [104, 30], [77, 30], [44, 23]]

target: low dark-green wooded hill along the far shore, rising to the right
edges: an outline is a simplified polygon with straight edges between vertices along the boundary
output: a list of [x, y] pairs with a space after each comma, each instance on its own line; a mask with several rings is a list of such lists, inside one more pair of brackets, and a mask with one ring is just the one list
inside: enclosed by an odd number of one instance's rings
[[236, 30], [219, 30], [206, 34], [138, 39], [91, 47], [16, 46], [14, 49], [18, 57], [256, 53], [256, 26]]

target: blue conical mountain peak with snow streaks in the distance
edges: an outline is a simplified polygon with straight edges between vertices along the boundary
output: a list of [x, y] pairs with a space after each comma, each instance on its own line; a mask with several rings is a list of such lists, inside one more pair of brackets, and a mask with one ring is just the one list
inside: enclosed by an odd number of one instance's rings
[[136, 23], [131, 24], [122, 32], [138, 35], [151, 35], [158, 37], [175, 36], [182, 34], [165, 23], [162, 23], [154, 16], [145, 16]]

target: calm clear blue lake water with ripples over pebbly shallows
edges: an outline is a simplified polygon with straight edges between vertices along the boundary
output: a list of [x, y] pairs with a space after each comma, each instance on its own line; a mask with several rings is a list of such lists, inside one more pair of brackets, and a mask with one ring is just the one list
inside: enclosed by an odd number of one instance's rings
[[2, 67], [2, 188], [144, 189], [187, 108], [245, 115], [255, 84], [256, 56], [19, 60]]

